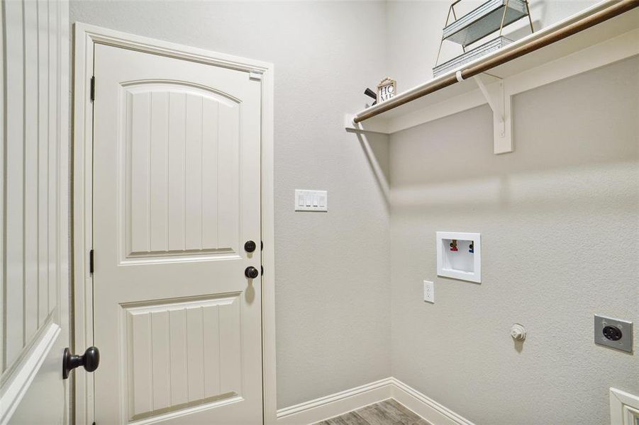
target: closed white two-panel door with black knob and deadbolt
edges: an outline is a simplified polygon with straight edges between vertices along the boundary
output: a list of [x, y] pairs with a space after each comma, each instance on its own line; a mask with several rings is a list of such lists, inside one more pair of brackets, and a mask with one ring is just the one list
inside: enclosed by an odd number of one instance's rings
[[94, 52], [96, 423], [262, 423], [261, 82]]

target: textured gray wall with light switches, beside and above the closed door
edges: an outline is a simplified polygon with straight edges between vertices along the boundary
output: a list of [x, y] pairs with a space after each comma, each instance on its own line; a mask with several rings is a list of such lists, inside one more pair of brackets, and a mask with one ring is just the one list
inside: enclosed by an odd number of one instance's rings
[[[278, 407], [390, 375], [388, 210], [345, 111], [382, 78], [383, 2], [72, 1], [80, 21], [275, 64]], [[384, 145], [384, 137], [375, 140]], [[295, 188], [328, 213], [294, 212]]]

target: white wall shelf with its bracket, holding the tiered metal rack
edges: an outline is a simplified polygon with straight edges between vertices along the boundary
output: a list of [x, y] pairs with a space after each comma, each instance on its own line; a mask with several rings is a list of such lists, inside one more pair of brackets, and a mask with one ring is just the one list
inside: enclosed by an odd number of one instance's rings
[[[639, 6], [639, 1], [635, 3]], [[639, 55], [639, 8], [631, 8], [586, 30], [493, 67], [488, 74], [479, 74], [459, 82], [454, 81], [455, 84], [428, 92], [430, 88], [441, 86], [442, 81], [450, 81], [451, 76], [455, 79], [462, 70], [487, 62], [491, 58], [503, 55], [504, 52], [521, 49], [522, 46], [527, 46], [535, 40], [557, 33], [557, 30], [568, 28], [584, 18], [594, 16], [595, 13], [610, 7], [611, 4], [619, 4], [619, 2], [603, 1], [485, 57], [397, 94], [390, 101], [356, 114], [347, 114], [345, 127], [350, 131], [392, 134], [489, 103], [495, 115], [495, 153], [511, 152], [511, 97], [553, 81]], [[428, 93], [422, 94], [424, 92]], [[379, 113], [379, 115], [368, 118], [372, 115], [371, 113]], [[354, 120], [360, 122], [355, 123]]]

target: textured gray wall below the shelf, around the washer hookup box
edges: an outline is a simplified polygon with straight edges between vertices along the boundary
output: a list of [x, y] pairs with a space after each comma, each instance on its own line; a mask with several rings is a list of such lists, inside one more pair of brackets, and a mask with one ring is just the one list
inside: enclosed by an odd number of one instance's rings
[[[477, 424], [607, 424], [609, 387], [639, 394], [592, 323], [632, 320], [637, 350], [638, 94], [639, 58], [519, 94], [511, 154], [487, 106], [391, 136], [394, 377]], [[437, 231], [482, 234], [481, 284], [436, 276]]]

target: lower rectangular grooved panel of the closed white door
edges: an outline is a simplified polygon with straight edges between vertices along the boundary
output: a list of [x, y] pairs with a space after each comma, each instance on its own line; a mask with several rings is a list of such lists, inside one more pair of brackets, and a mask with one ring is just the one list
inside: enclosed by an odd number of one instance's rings
[[123, 306], [133, 419], [242, 394], [240, 293]]

